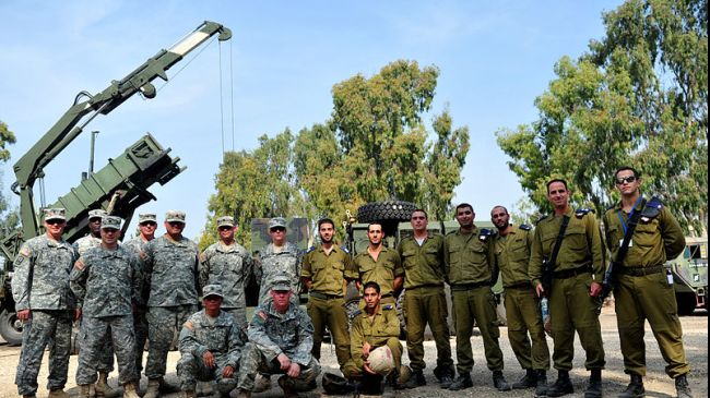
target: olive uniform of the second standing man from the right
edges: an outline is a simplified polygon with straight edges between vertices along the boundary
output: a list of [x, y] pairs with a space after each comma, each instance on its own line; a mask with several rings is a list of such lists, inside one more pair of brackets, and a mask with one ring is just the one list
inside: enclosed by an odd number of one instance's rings
[[[589, 296], [592, 281], [604, 278], [604, 248], [594, 214], [584, 210], [566, 213], [569, 225], [554, 264], [549, 319], [553, 362], [558, 371], [572, 369], [575, 330], [587, 352], [587, 370], [604, 369], [602, 328], [596, 315], [596, 301]], [[530, 255], [530, 278], [533, 286], [542, 279], [543, 257], [549, 257], [563, 224], [561, 216], [547, 216], [537, 222]]]

